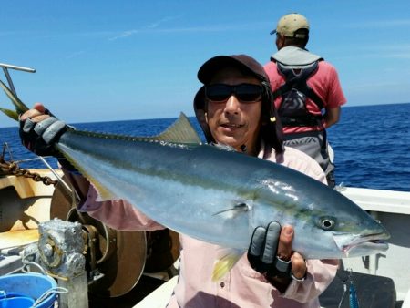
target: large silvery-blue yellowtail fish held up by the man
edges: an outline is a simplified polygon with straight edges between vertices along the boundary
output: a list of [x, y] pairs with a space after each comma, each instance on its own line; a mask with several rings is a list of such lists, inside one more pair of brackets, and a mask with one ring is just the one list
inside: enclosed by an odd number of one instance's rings
[[[26, 110], [8, 95], [17, 112]], [[336, 190], [271, 161], [201, 144], [183, 115], [151, 138], [69, 129], [56, 148], [102, 200], [128, 200], [174, 231], [237, 252], [248, 249], [254, 228], [270, 221], [293, 226], [292, 249], [306, 259], [388, 247], [380, 241], [389, 238], [384, 227]]]

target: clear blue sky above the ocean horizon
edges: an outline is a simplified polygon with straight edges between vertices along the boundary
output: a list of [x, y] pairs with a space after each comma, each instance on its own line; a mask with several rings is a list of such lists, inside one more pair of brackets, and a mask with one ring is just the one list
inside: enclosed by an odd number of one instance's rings
[[[269, 32], [291, 12], [308, 17], [308, 48], [337, 68], [350, 106], [410, 101], [408, 0], [7, 1], [0, 63], [36, 68], [11, 71], [18, 96], [69, 123], [192, 116], [200, 65], [241, 53], [266, 63]], [[11, 107], [3, 93], [0, 106]]]

